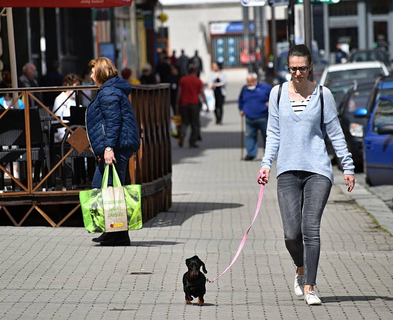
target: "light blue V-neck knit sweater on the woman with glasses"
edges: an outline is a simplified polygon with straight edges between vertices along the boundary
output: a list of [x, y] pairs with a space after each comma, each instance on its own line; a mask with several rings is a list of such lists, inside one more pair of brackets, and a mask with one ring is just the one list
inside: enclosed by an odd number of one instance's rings
[[[299, 115], [292, 110], [288, 84], [282, 85], [280, 108], [277, 106], [279, 86], [272, 89], [269, 98], [269, 120], [265, 156], [261, 168], [271, 169], [277, 151], [277, 176], [289, 170], [309, 171], [328, 177], [333, 184], [333, 169], [321, 132], [321, 104], [319, 86], [315, 87], [306, 109]], [[323, 87], [324, 130], [341, 160], [344, 174], [353, 175], [352, 155], [348, 152], [337, 118], [332, 92]]]

